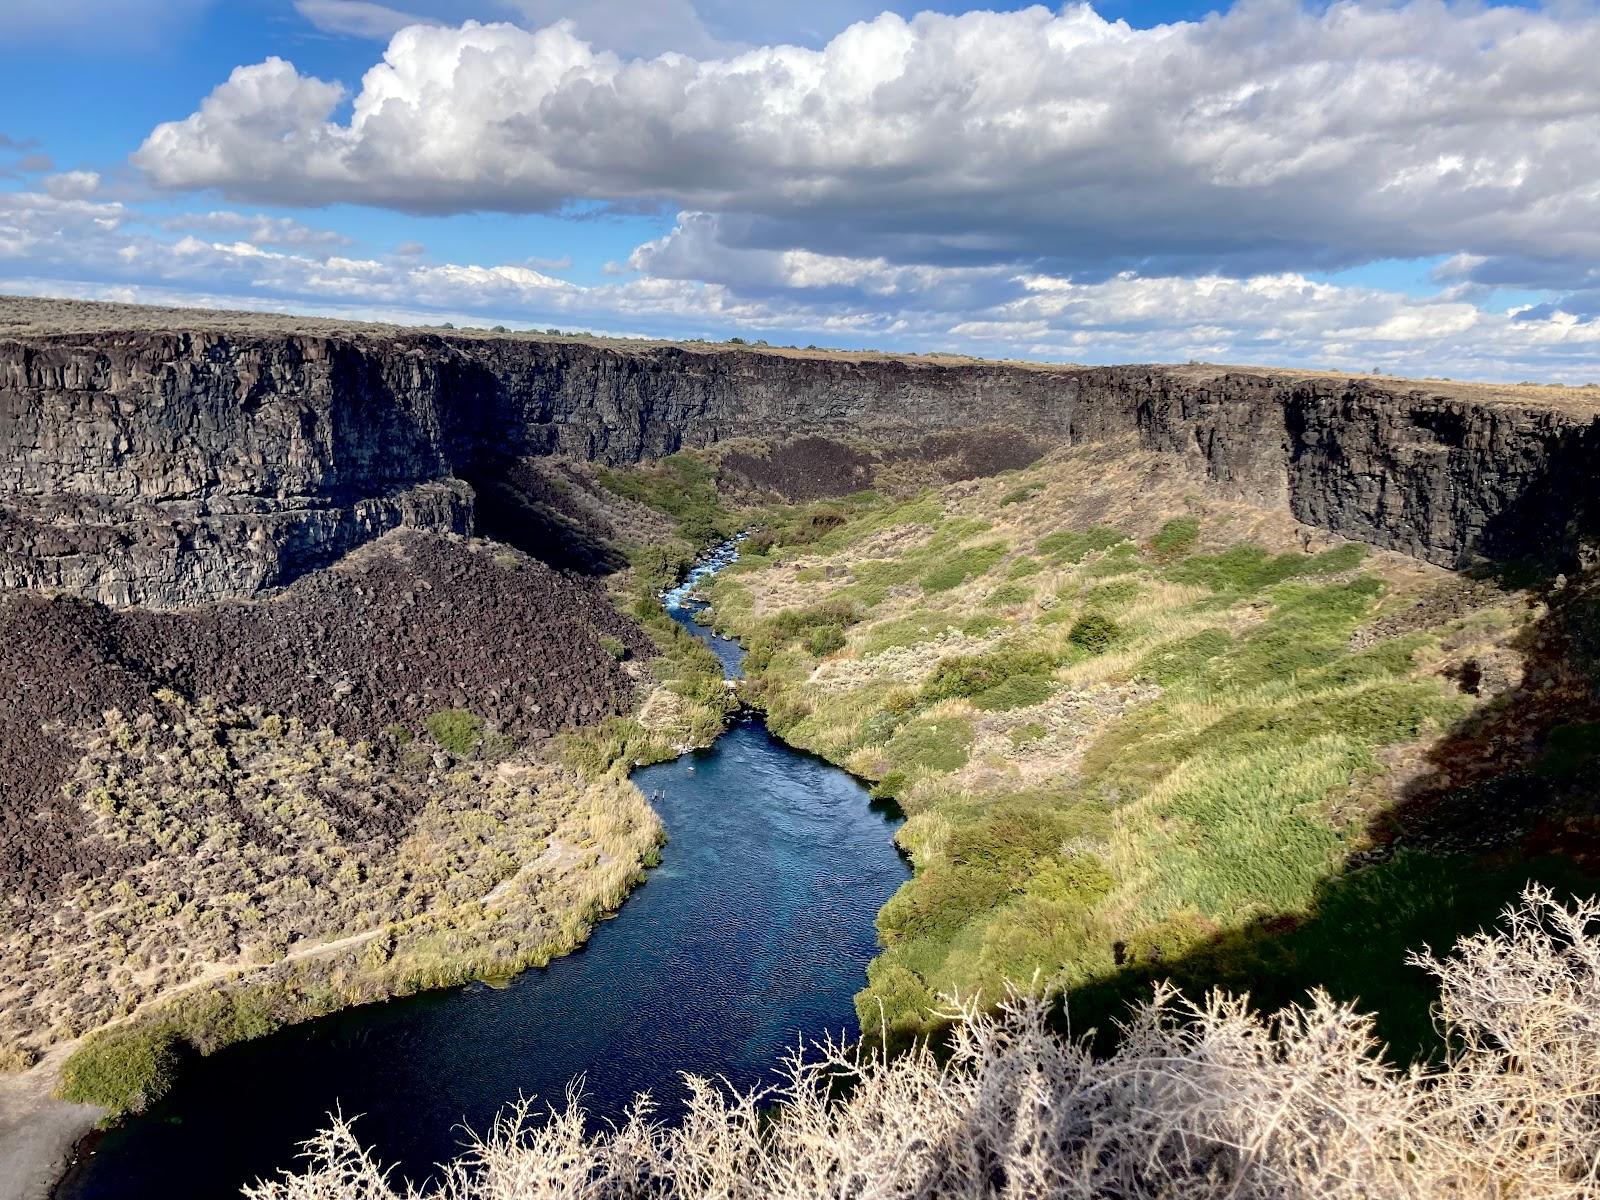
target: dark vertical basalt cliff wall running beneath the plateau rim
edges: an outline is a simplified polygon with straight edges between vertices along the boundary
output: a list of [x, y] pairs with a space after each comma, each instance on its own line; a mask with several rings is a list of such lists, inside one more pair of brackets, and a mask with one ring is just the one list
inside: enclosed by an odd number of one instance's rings
[[[1482, 390], [1482, 389], [1480, 389]], [[1432, 563], [1590, 528], [1600, 402], [1216, 368], [1029, 368], [429, 333], [0, 339], [0, 587], [250, 597], [392, 528], [466, 531], [517, 456], [728, 438], [1138, 435], [1219, 493]]]

